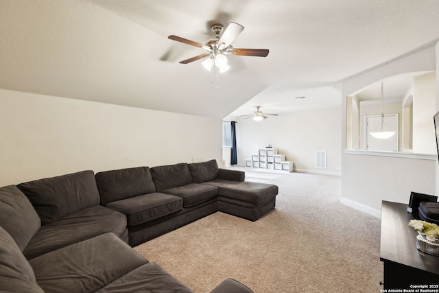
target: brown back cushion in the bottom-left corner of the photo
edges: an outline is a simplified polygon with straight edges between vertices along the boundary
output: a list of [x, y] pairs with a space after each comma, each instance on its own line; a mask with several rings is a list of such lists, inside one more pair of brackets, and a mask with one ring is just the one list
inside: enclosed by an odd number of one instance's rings
[[40, 292], [34, 270], [25, 259], [19, 246], [0, 226], [0, 284], [1, 292]]

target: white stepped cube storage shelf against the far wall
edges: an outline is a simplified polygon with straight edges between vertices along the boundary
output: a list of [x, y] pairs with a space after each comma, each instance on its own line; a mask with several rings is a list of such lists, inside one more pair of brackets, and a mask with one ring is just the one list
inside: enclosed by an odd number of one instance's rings
[[257, 154], [245, 162], [246, 167], [293, 172], [293, 162], [285, 161], [285, 154], [278, 154], [275, 148], [259, 148]]

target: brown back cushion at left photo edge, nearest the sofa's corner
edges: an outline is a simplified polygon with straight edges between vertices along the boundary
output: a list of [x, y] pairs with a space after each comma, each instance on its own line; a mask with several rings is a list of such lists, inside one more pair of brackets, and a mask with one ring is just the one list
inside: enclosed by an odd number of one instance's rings
[[23, 251], [41, 226], [34, 207], [15, 185], [0, 188], [0, 226]]

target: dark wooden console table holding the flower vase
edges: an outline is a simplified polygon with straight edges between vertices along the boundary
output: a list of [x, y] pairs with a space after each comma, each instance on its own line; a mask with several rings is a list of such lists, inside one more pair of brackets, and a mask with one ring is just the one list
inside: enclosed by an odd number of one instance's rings
[[407, 213], [407, 204], [383, 201], [379, 259], [384, 263], [385, 290], [413, 289], [414, 285], [439, 289], [439, 257], [416, 248], [418, 234], [408, 225], [414, 218]]

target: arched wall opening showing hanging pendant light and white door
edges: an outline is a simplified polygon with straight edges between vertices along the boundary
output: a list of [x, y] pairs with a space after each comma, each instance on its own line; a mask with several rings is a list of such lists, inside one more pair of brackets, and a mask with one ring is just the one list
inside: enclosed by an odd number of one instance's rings
[[[383, 145], [381, 149], [379, 146], [372, 148], [368, 133], [369, 118], [381, 117], [381, 82], [384, 125], [396, 130], [395, 136], [390, 138], [396, 140], [394, 148], [386, 148], [385, 143], [373, 144]], [[435, 71], [405, 73], [378, 80], [346, 98], [346, 150], [436, 154], [432, 122], [435, 113]]]

